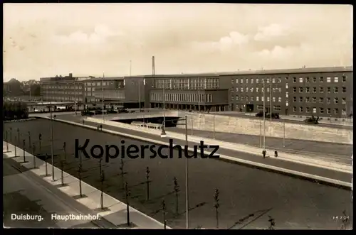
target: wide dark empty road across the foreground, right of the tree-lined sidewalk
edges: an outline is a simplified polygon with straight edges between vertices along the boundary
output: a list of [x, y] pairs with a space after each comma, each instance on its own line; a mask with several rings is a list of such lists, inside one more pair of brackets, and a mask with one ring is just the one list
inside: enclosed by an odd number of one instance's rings
[[[50, 121], [36, 120], [21, 123], [5, 124], [5, 129], [19, 127], [23, 135], [31, 132], [36, 140], [38, 133], [43, 136], [43, 152], [51, 153], [48, 146]], [[15, 133], [13, 134], [15, 135]], [[55, 154], [63, 154], [61, 149], [66, 141], [67, 164], [65, 170], [76, 175], [78, 159], [73, 157], [75, 139], [80, 144], [90, 139], [88, 147], [95, 144], [116, 144], [125, 140], [125, 146], [135, 144], [146, 145], [142, 141], [109, 135], [78, 126], [53, 122]], [[46, 142], [46, 143], [45, 143]], [[164, 153], [165, 151], [163, 151]], [[167, 153], [167, 151], [166, 151]], [[125, 181], [129, 182], [132, 206], [162, 221], [161, 207], [164, 199], [167, 204], [168, 225], [184, 227], [184, 159], [177, 158], [137, 158], [124, 160]], [[147, 156], [148, 157], [148, 156]], [[58, 165], [58, 156], [55, 163]], [[150, 200], [146, 201], [145, 186], [146, 167], [150, 168]], [[94, 187], [99, 187], [99, 163], [97, 159], [84, 159], [83, 180]], [[112, 159], [104, 163], [105, 192], [124, 199], [122, 177], [120, 175], [120, 159]], [[179, 215], [175, 216], [176, 200], [173, 177], [177, 177], [180, 186], [178, 197]], [[269, 173], [263, 170], [246, 168], [241, 165], [226, 163], [220, 160], [192, 159], [189, 160], [189, 209], [190, 226], [214, 228], [216, 224], [214, 212], [214, 190], [220, 191], [219, 227], [221, 229], [266, 229], [269, 226], [268, 215], [276, 219], [276, 229], [338, 229], [341, 224], [334, 217], [346, 210], [352, 213], [351, 192], [335, 187], [318, 185], [313, 182]], [[171, 193], [170, 193], [171, 192]], [[193, 209], [197, 204], [201, 207]], [[248, 217], [251, 215], [251, 217]], [[352, 214], [350, 214], [352, 216]], [[246, 218], [248, 217], [248, 218]], [[243, 219], [245, 218], [245, 219]], [[238, 223], [240, 219], [242, 222]], [[237, 223], [237, 224], [236, 224]], [[235, 224], [235, 226], [234, 226]]]

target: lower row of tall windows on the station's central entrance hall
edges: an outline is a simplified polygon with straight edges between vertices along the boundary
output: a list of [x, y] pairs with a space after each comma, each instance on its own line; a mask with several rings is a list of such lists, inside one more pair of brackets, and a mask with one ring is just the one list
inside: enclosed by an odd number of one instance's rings
[[[212, 94], [187, 94], [187, 93], [169, 93], [164, 94], [167, 102], [192, 102], [192, 103], [211, 103], [213, 102]], [[199, 99], [200, 97], [200, 99]], [[151, 92], [152, 102], [163, 102], [163, 94], [161, 92]]]

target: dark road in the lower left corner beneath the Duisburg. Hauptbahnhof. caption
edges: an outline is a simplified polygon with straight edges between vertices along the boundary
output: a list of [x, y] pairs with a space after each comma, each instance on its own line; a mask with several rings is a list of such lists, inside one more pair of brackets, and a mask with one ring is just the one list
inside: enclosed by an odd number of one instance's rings
[[[98, 228], [103, 222], [58, 221], [51, 214], [96, 214], [10, 158], [3, 159], [4, 226], [11, 228]], [[38, 216], [11, 219], [12, 214]], [[108, 223], [105, 223], [106, 225]], [[112, 227], [112, 224], [110, 224]]]

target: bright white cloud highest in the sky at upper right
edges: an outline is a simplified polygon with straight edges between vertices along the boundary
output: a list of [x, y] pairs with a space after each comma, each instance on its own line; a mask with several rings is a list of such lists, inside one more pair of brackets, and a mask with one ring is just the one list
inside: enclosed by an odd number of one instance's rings
[[253, 39], [257, 41], [268, 41], [286, 36], [288, 33], [288, 28], [286, 26], [273, 23], [269, 26], [259, 27], [258, 33], [256, 33]]

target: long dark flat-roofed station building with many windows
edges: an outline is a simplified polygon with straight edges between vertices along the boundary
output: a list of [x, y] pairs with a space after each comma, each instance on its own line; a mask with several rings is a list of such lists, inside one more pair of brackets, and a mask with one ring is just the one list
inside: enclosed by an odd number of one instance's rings
[[263, 110], [342, 118], [353, 114], [352, 67], [132, 77], [41, 78], [46, 101], [194, 111]]

